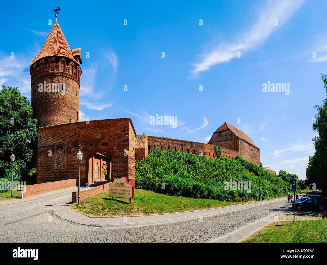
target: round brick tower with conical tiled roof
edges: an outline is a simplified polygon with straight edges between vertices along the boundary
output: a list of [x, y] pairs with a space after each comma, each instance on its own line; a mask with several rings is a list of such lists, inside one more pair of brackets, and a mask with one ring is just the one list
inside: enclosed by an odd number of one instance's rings
[[56, 19], [29, 69], [37, 127], [78, 121], [81, 63], [80, 48], [70, 49]]

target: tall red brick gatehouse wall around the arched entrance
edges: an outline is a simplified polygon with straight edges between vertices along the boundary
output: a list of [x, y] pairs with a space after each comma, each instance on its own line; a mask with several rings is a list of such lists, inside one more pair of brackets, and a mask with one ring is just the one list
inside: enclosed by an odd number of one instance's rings
[[[84, 154], [81, 163], [81, 184], [89, 181], [89, 159], [96, 152], [110, 158], [112, 180], [116, 177], [127, 177], [130, 183], [135, 184], [135, 136], [130, 118], [92, 120], [89, 123], [75, 122], [38, 128], [37, 183], [77, 178], [79, 165], [76, 153], [80, 149]], [[127, 156], [123, 155], [124, 150], [127, 150]], [[48, 155], [49, 151], [52, 156]], [[65, 162], [54, 170], [52, 160], [58, 151], [64, 154]], [[60, 157], [63, 156], [60, 154]], [[60, 162], [60, 159], [56, 159], [54, 163], [58, 161]]]

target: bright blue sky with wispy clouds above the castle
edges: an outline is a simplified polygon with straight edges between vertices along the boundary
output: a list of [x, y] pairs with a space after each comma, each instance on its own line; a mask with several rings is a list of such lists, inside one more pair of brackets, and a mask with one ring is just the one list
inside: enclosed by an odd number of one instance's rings
[[[326, 96], [326, 2], [5, 2], [0, 84], [30, 98], [29, 64], [57, 6], [70, 48], [81, 48], [82, 120], [130, 117], [137, 134], [197, 142], [227, 121], [260, 148], [263, 166], [305, 178], [313, 106]], [[264, 93], [268, 82], [288, 83], [289, 95]], [[177, 116], [177, 127], [150, 125], [156, 114]]]

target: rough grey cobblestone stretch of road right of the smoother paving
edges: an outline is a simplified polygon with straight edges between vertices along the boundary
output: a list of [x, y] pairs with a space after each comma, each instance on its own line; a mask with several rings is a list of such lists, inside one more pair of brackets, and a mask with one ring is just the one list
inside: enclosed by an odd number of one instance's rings
[[285, 207], [284, 201], [238, 212], [158, 225], [113, 229], [132, 242], [206, 242]]

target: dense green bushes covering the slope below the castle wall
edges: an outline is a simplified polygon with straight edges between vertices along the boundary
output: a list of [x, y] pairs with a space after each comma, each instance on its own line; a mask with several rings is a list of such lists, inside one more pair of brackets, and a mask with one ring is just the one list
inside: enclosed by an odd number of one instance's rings
[[[290, 190], [290, 183], [240, 156], [212, 159], [155, 148], [145, 160], [135, 161], [136, 188], [174, 196], [249, 201], [258, 198], [259, 176], [261, 193], [267, 199], [286, 195]], [[251, 182], [251, 192], [225, 190], [224, 182], [230, 180]]]

